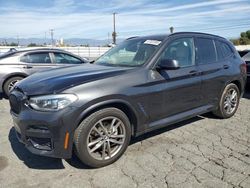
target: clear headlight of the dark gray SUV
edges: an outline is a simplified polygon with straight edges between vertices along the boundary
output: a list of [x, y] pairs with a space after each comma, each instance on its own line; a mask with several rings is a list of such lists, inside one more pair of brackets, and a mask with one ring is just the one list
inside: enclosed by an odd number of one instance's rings
[[29, 105], [39, 111], [58, 111], [65, 108], [77, 100], [74, 94], [44, 95], [31, 97]]

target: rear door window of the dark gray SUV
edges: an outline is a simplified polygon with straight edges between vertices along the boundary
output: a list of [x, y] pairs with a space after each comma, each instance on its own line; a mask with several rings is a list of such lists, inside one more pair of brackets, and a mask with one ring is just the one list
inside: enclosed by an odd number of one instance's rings
[[195, 46], [196, 61], [199, 64], [216, 62], [215, 46], [212, 39], [196, 38]]

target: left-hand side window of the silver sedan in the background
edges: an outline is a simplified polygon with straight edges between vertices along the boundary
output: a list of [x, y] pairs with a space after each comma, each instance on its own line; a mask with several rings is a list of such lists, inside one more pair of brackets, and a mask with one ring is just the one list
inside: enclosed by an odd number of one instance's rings
[[49, 53], [33, 53], [27, 54], [20, 58], [21, 62], [25, 63], [51, 63]]

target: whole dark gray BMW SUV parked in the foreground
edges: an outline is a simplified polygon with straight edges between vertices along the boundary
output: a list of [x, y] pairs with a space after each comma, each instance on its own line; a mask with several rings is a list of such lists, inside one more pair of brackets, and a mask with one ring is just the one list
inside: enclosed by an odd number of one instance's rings
[[132, 136], [210, 112], [229, 118], [246, 64], [226, 39], [202, 33], [133, 37], [93, 64], [36, 73], [9, 101], [19, 140], [34, 154], [91, 167], [116, 161]]

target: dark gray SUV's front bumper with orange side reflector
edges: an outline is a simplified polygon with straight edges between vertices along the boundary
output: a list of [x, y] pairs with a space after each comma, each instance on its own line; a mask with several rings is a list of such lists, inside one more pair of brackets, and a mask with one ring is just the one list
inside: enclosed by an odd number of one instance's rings
[[33, 154], [71, 158], [77, 127], [75, 107], [57, 112], [39, 112], [21, 102], [19, 113], [11, 110], [18, 140]]

